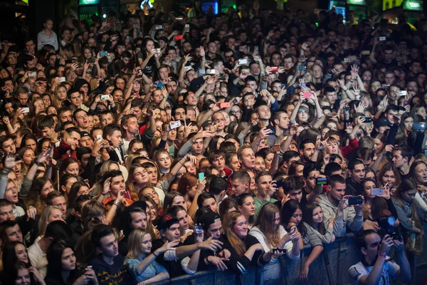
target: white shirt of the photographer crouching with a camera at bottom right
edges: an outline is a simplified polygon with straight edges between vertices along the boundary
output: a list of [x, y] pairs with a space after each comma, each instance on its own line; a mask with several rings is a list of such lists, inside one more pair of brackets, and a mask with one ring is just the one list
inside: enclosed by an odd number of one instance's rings
[[[381, 258], [381, 257], [380, 257]], [[390, 257], [386, 257], [386, 259], [389, 259]], [[349, 268], [349, 276], [350, 279], [352, 279], [352, 284], [356, 285], [359, 284], [359, 279], [362, 278], [362, 276], [368, 276], [369, 273], [372, 271], [374, 266], [364, 266], [362, 262], [359, 262], [357, 264], [354, 264], [352, 267]], [[383, 271], [381, 273], [381, 278], [379, 279], [379, 283], [377, 285], [389, 285], [390, 284], [390, 276], [394, 277], [397, 271], [399, 271], [400, 266], [396, 264], [394, 261], [387, 261], [384, 263]]]

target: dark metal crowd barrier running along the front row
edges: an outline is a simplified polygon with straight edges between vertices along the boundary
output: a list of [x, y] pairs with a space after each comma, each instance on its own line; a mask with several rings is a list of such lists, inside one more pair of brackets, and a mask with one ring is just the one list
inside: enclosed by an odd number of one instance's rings
[[[427, 223], [423, 224], [427, 232]], [[300, 281], [300, 271], [310, 256], [311, 248], [302, 250], [298, 260], [291, 260], [286, 256], [280, 257], [279, 262], [267, 264], [264, 267], [251, 267], [245, 274], [236, 275], [228, 271], [199, 271], [194, 275], [183, 275], [173, 279], [155, 283], [156, 285], [345, 285], [351, 284], [348, 270], [353, 264], [361, 260], [361, 253], [354, 244], [353, 234], [326, 244], [323, 252], [311, 265], [307, 281]], [[424, 254], [426, 253], [426, 254]], [[417, 257], [408, 257], [411, 263], [411, 284], [423, 284], [427, 279], [427, 238], [423, 241], [423, 254]]]

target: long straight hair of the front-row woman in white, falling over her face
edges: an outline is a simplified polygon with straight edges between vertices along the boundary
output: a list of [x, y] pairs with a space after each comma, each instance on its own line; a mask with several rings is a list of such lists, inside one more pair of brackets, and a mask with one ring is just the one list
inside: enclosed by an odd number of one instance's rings
[[279, 227], [275, 227], [274, 220], [275, 214], [279, 214], [280, 211], [275, 204], [268, 203], [265, 204], [258, 213], [256, 217], [255, 224], [253, 227], [258, 227], [260, 231], [264, 234], [266, 243], [270, 248], [276, 248], [280, 242]]

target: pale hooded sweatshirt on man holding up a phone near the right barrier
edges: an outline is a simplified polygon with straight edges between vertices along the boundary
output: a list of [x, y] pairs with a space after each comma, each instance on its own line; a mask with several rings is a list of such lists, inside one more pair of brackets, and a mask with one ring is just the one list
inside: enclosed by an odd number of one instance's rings
[[319, 196], [319, 206], [323, 212], [323, 222], [325, 227], [328, 227], [329, 219], [334, 217], [334, 235], [335, 237], [342, 237], [346, 233], [346, 228], [349, 227], [353, 232], [358, 232], [362, 229], [363, 217], [357, 216], [354, 212], [354, 207], [349, 206], [342, 212], [342, 217], [337, 217], [337, 207], [327, 199], [327, 193]]

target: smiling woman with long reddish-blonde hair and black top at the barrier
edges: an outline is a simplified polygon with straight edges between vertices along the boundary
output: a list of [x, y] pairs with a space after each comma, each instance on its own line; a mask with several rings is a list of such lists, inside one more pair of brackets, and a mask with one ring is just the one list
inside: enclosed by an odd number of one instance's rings
[[248, 234], [248, 221], [241, 212], [229, 212], [223, 220], [223, 249], [230, 252], [226, 261], [229, 270], [236, 274], [243, 274], [248, 266], [264, 266], [270, 262], [272, 252], [264, 253], [263, 245], [258, 239]]

